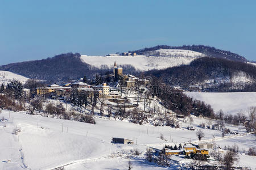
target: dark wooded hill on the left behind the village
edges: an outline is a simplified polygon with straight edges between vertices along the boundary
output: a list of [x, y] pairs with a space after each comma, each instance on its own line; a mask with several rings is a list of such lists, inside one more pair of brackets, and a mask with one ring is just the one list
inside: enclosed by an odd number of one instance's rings
[[81, 62], [79, 53], [67, 53], [47, 59], [10, 63], [0, 66], [0, 70], [11, 71], [28, 78], [57, 82], [81, 78], [85, 74], [95, 73], [97, 69]]

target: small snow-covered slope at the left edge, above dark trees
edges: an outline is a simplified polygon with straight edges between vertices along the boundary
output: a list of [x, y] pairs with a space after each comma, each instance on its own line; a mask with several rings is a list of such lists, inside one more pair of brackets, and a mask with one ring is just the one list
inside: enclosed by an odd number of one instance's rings
[[5, 83], [6, 85], [7, 83], [10, 82], [10, 80], [13, 80], [13, 79], [19, 80], [23, 84], [28, 80], [28, 78], [22, 75], [11, 73], [10, 71], [0, 71], [0, 84]]

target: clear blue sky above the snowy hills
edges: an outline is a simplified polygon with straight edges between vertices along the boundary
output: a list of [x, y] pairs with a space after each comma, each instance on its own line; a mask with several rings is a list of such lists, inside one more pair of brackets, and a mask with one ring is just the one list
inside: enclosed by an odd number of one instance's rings
[[0, 65], [203, 44], [256, 60], [256, 1], [0, 0]]

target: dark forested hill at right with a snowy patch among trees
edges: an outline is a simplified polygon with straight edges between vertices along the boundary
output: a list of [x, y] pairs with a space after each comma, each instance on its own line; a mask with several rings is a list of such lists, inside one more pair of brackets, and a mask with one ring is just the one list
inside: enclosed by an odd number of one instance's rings
[[256, 66], [223, 58], [201, 57], [189, 65], [150, 70], [145, 75], [156, 76], [171, 86], [183, 88], [195, 84], [205, 86], [212, 80], [210, 85], [214, 91], [256, 91]]

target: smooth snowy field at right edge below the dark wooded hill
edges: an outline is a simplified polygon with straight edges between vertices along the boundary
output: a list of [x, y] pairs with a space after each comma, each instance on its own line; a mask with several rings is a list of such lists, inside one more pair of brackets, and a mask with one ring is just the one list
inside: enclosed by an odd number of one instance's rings
[[193, 99], [210, 104], [214, 112], [222, 111], [225, 114], [236, 114], [240, 111], [247, 113], [247, 109], [256, 106], [256, 92], [185, 92]]

